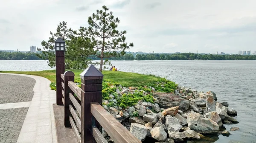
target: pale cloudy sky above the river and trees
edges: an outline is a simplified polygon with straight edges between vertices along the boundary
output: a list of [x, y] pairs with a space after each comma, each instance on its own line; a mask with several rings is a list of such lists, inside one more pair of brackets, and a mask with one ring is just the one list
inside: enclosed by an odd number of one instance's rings
[[0, 49], [42, 48], [60, 21], [78, 30], [105, 5], [126, 30], [128, 51], [256, 51], [256, 0], [0, 0]]

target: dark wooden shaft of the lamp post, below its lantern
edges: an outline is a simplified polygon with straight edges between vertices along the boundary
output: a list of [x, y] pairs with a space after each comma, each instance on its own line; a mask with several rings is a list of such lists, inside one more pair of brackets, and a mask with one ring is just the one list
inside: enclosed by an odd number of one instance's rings
[[56, 51], [56, 104], [63, 105], [61, 98], [61, 74], [65, 72], [64, 51]]

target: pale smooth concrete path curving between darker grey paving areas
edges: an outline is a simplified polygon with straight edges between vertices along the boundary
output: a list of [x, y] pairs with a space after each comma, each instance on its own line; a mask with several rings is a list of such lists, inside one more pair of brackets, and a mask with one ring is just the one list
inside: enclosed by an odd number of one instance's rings
[[52, 107], [56, 103], [56, 92], [50, 90], [50, 81], [40, 76], [9, 75], [26, 76], [36, 81], [32, 101], [0, 104], [0, 109], [29, 107], [17, 143], [57, 143]]

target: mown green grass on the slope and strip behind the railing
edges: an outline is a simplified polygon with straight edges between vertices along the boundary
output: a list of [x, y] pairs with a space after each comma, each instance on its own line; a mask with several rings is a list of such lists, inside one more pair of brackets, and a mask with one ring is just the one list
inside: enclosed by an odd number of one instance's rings
[[[83, 70], [71, 70], [75, 73], [75, 79], [80, 79], [79, 74]], [[0, 73], [19, 73], [19, 74], [28, 74], [35, 76], [42, 76], [49, 79], [52, 82], [56, 81], [55, 70], [43, 70], [43, 71], [0, 71]], [[126, 72], [117, 72], [104, 70], [103, 72], [104, 79], [109, 79], [113, 82], [121, 84], [122, 86], [145, 86], [148, 84], [154, 84], [160, 77], [148, 76], [138, 73], [126, 73]]]

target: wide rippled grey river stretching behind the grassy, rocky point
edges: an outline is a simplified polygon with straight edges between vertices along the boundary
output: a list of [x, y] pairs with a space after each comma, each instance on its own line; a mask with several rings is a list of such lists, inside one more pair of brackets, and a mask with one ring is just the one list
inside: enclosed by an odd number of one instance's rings
[[[256, 61], [112, 61], [112, 64], [121, 71], [154, 74], [198, 91], [214, 91], [218, 101], [227, 101], [238, 112], [239, 123], [225, 124], [225, 128], [240, 129], [230, 131], [229, 137], [211, 137], [207, 143], [256, 143]], [[0, 71], [50, 69], [41, 60], [0, 60]]]

